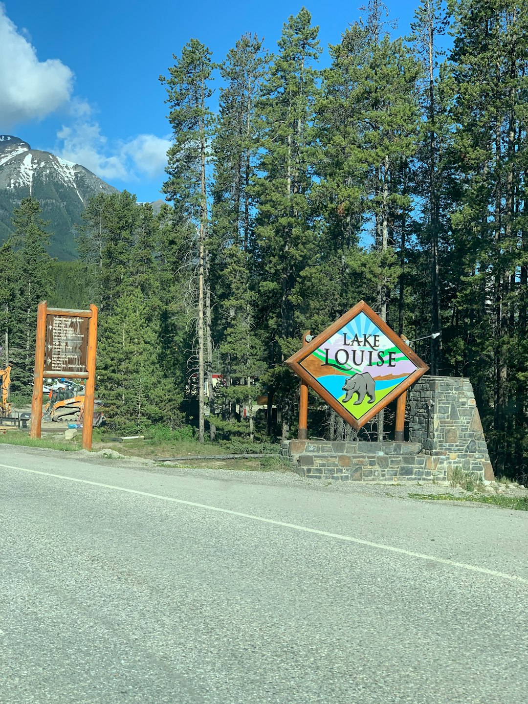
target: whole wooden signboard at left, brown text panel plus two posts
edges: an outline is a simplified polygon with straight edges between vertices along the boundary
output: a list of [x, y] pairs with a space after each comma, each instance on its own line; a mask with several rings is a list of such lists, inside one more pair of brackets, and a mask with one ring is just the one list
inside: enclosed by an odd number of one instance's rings
[[42, 433], [44, 376], [86, 379], [82, 447], [92, 449], [96, 347], [96, 306], [90, 306], [89, 310], [66, 310], [48, 308], [46, 301], [39, 303], [30, 437], [39, 439]]

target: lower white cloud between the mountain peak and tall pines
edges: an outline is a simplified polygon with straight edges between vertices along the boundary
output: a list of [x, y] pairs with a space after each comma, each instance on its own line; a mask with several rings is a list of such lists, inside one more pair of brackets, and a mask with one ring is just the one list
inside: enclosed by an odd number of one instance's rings
[[57, 133], [60, 140], [55, 152], [68, 161], [85, 166], [104, 180], [118, 179], [135, 182], [139, 177], [155, 178], [163, 175], [167, 163], [169, 139], [155, 134], [139, 134], [127, 141], [109, 144], [101, 134], [101, 127], [89, 118], [89, 109], [80, 103], [75, 120], [70, 127], [62, 127]]

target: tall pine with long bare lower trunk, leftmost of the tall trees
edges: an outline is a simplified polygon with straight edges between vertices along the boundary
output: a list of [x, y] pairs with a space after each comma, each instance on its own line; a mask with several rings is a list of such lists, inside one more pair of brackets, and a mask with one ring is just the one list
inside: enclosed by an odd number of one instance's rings
[[[210, 277], [208, 256], [208, 203], [206, 161], [212, 115], [208, 108], [209, 83], [213, 64], [210, 51], [197, 39], [174, 56], [175, 65], [168, 77], [160, 77], [168, 93], [168, 119], [174, 144], [168, 151], [168, 180], [163, 192], [172, 201], [182, 225], [190, 220], [199, 232], [198, 242], [191, 239], [189, 250], [197, 250], [198, 258], [198, 376], [199, 376], [199, 441], [205, 432], [204, 370], [207, 370], [210, 411], [214, 413], [213, 346], [210, 333]], [[211, 413], [211, 415], [213, 415]], [[211, 435], [214, 429], [211, 426]]]

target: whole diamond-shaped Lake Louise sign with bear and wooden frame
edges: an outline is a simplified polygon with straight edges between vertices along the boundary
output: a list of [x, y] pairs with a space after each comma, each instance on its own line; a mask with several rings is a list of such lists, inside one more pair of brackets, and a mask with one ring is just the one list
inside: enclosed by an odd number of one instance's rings
[[365, 301], [286, 363], [356, 429], [429, 370]]

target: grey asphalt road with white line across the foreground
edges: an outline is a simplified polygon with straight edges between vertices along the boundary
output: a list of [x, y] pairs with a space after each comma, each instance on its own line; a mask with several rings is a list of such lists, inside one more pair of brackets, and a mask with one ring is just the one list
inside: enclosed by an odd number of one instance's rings
[[0, 446], [2, 704], [525, 704], [528, 513]]

